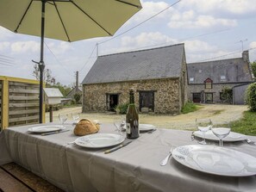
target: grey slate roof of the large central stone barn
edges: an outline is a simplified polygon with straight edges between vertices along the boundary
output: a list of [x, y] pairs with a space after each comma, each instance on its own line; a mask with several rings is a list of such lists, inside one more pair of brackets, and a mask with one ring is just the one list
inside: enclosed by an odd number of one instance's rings
[[184, 44], [100, 56], [82, 84], [179, 77]]

